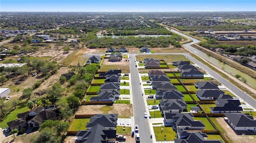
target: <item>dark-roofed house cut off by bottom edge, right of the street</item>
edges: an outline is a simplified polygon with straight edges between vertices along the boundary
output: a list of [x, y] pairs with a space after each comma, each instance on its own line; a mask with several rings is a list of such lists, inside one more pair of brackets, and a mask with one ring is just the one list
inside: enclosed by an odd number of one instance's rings
[[201, 131], [177, 131], [178, 139], [174, 139], [174, 143], [223, 143], [222, 140], [206, 140], [206, 133]]

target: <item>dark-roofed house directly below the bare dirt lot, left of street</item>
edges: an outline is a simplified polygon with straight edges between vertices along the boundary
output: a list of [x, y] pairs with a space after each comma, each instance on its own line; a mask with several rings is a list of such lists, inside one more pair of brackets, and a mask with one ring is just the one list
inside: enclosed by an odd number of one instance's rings
[[86, 123], [86, 129], [91, 129], [95, 125], [100, 124], [106, 129], [114, 130], [116, 129], [117, 120], [118, 114], [94, 114], [90, 121]]

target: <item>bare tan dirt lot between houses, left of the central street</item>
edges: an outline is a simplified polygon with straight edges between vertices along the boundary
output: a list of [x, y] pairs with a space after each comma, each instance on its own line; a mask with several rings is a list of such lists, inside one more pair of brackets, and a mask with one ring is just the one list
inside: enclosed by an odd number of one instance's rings
[[133, 116], [132, 104], [113, 104], [110, 108], [113, 108], [110, 111], [103, 111], [106, 105], [86, 105], [80, 106], [76, 114], [118, 114], [118, 117], [129, 117]]

